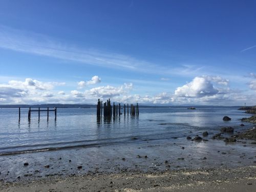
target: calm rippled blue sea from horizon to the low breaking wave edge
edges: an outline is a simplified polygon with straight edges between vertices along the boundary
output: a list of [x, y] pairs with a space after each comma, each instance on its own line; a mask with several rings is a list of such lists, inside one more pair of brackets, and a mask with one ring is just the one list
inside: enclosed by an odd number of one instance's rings
[[[216, 133], [222, 126], [240, 127], [241, 118], [249, 117], [237, 107], [186, 107], [140, 108], [139, 116], [115, 118], [96, 117], [96, 109], [58, 109], [54, 112], [31, 114], [21, 110], [18, 121], [17, 109], [0, 109], [0, 155], [38, 151], [57, 151], [69, 148], [95, 147], [103, 145], [136, 145], [145, 140], [162, 143], [170, 139], [186, 137], [190, 131]], [[232, 118], [222, 121], [223, 116]]]

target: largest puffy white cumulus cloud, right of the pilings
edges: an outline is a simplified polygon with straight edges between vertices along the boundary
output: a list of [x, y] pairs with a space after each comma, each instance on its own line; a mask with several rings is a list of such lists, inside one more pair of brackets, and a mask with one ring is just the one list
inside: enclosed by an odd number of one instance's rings
[[205, 76], [195, 77], [193, 81], [175, 90], [175, 95], [179, 97], [204, 97], [218, 93], [210, 79]]

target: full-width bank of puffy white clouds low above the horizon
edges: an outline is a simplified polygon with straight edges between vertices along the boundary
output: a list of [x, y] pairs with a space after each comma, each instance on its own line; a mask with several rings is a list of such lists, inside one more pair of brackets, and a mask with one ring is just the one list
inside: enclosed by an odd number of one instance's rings
[[86, 85], [90, 85], [90, 88], [81, 86], [84, 89], [81, 91], [75, 89], [64, 91], [66, 82], [42, 82], [26, 78], [24, 81], [10, 80], [6, 84], [0, 84], [0, 101], [2, 104], [95, 104], [98, 98], [111, 98], [112, 101], [121, 103], [166, 105], [241, 105], [243, 102], [254, 104], [256, 81], [253, 74], [251, 77], [253, 79], [248, 83], [251, 93], [246, 94], [241, 90], [231, 90], [229, 80], [220, 76], [196, 76], [173, 92], [161, 92], [156, 95], [134, 93], [136, 85], [133, 83], [124, 83], [117, 87], [111, 85], [96, 87], [96, 84], [101, 82], [101, 78], [97, 75], [91, 80], [83, 81]]

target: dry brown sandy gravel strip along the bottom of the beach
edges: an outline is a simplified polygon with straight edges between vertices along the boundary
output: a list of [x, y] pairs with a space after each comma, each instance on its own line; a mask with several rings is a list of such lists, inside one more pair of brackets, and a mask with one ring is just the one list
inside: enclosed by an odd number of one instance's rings
[[87, 174], [1, 183], [0, 191], [255, 191], [256, 166]]

